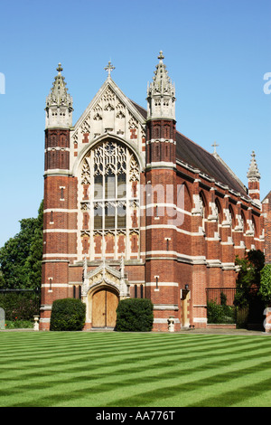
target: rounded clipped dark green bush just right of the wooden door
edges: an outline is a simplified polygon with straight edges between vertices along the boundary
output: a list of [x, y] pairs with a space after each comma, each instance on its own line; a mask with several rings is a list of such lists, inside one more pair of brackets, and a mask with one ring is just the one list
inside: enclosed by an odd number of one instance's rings
[[150, 299], [127, 298], [117, 306], [116, 330], [119, 332], [150, 332], [154, 322], [154, 305]]

